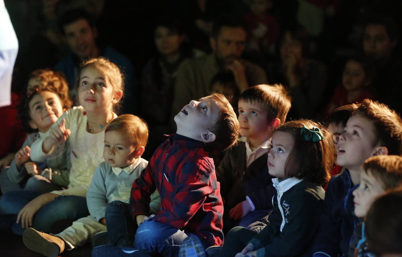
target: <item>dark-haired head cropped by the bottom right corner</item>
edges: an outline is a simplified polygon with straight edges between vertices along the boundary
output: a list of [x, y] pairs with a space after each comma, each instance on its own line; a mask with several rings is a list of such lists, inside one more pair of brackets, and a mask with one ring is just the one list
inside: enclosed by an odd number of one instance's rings
[[402, 253], [402, 189], [388, 191], [371, 205], [365, 218], [369, 249], [377, 255]]

